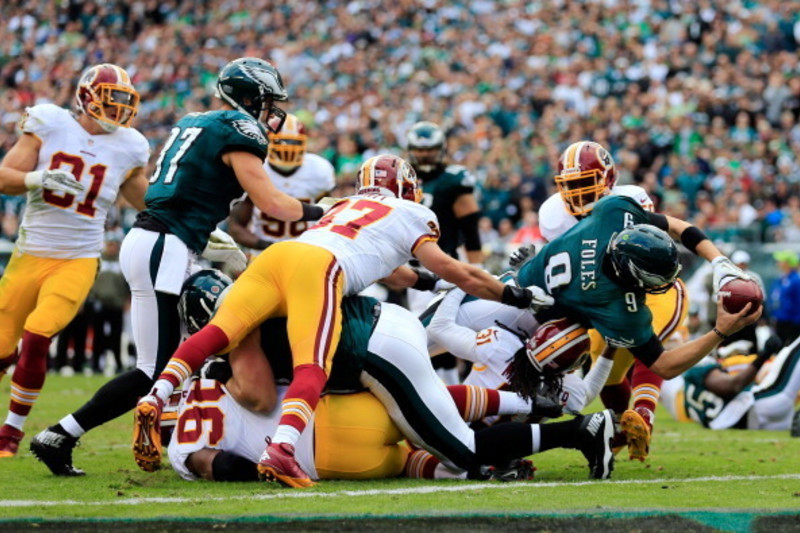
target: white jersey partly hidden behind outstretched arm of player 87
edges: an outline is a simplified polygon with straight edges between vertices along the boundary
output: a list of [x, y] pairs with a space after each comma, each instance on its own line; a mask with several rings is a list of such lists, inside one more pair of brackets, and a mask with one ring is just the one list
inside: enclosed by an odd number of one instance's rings
[[[303, 157], [303, 164], [291, 176], [277, 172], [269, 163], [264, 164], [264, 169], [279, 190], [301, 202], [313, 203], [336, 186], [333, 165], [316, 154], [307, 153]], [[250, 226], [253, 234], [267, 242], [293, 239], [308, 229], [305, 221], [284, 222], [255, 206]]]

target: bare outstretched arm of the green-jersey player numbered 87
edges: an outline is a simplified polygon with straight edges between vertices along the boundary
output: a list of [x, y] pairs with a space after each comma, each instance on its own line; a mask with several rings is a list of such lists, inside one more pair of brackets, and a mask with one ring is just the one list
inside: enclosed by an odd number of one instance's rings
[[284, 193], [272, 183], [263, 163], [250, 152], [228, 152], [222, 161], [233, 169], [236, 179], [253, 204], [279, 220], [318, 220], [325, 213], [316, 205], [304, 204]]

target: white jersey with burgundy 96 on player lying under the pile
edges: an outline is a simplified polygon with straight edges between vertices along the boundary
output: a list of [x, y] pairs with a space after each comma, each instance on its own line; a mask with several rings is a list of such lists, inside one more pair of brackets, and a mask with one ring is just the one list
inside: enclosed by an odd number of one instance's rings
[[[288, 387], [278, 387], [275, 409], [267, 415], [253, 413], [239, 405], [222, 383], [213, 379], [194, 379], [189, 394], [178, 408], [178, 422], [167, 453], [172, 468], [183, 479], [197, 479], [187, 467], [190, 454], [203, 448], [225, 450], [257, 463], [281, 417], [281, 402]], [[302, 469], [317, 479], [314, 466], [314, 423], [306, 425], [295, 447]]]

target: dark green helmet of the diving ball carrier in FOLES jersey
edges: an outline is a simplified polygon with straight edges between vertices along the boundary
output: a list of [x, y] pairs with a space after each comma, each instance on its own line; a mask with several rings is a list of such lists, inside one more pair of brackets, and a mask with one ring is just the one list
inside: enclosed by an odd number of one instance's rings
[[650, 224], [636, 224], [614, 235], [608, 255], [620, 282], [651, 294], [667, 292], [681, 271], [675, 241]]

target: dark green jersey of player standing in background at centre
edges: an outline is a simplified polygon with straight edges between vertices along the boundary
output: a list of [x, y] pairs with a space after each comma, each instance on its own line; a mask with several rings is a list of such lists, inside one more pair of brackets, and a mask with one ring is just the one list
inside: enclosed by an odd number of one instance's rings
[[461, 165], [447, 165], [435, 178], [418, 176], [422, 183], [422, 203], [439, 219], [439, 247], [452, 257], [463, 242], [453, 204], [459, 196], [475, 190], [475, 177]]

